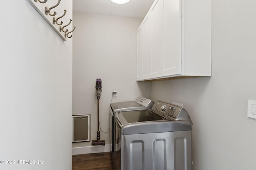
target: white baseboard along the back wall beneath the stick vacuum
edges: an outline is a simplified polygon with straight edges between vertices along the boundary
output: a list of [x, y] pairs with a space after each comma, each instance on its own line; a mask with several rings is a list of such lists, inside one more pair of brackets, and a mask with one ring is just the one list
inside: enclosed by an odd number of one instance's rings
[[72, 148], [72, 155], [99, 152], [110, 152], [110, 145]]

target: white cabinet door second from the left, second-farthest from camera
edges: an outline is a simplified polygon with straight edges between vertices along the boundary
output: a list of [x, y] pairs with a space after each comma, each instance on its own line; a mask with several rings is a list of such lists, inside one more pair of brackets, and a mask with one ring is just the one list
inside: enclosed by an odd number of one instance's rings
[[151, 25], [150, 13], [142, 21], [142, 79], [150, 78]]

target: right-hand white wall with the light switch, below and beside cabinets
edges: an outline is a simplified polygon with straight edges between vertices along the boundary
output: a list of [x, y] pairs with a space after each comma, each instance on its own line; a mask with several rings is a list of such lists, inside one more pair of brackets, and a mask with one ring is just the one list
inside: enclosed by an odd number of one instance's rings
[[184, 104], [192, 127], [193, 170], [254, 170], [256, 2], [212, 0], [212, 76], [152, 82], [152, 99]]

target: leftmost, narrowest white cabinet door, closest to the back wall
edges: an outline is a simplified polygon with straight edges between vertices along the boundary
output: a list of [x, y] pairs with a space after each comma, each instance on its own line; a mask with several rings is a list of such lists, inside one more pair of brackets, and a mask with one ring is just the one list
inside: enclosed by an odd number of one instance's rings
[[137, 79], [142, 80], [142, 57], [143, 57], [143, 40], [142, 40], [142, 25], [137, 30]]

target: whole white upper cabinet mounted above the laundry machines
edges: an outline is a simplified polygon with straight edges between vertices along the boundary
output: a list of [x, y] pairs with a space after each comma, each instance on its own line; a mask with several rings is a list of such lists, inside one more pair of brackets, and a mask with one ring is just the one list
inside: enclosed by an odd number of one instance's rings
[[155, 0], [137, 31], [137, 80], [211, 76], [211, 0]]

